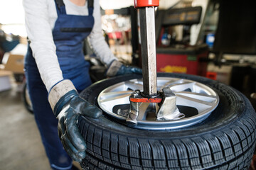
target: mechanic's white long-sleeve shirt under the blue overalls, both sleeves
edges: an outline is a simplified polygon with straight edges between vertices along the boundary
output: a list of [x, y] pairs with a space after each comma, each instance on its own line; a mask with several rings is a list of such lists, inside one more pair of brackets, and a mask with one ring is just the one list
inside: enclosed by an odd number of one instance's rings
[[[69, 0], [63, 0], [63, 2], [67, 14], [88, 15], [87, 2], [85, 6], [77, 6]], [[25, 10], [26, 30], [28, 38], [31, 40], [30, 46], [33, 51], [33, 57], [35, 57], [43, 83], [46, 85], [46, 89], [50, 91], [54, 84], [63, 79], [52, 35], [55, 21], [58, 18], [55, 2], [54, 0], [23, 0], [23, 7]], [[116, 58], [102, 35], [99, 0], [94, 1], [93, 16], [95, 25], [88, 40], [97, 57], [100, 57], [100, 60], [105, 64], [110, 64]]]

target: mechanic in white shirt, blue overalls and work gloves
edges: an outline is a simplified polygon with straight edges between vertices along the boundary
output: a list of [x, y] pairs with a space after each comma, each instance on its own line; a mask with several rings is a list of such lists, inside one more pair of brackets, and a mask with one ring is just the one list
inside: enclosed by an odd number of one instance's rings
[[85, 38], [107, 65], [108, 77], [142, 70], [124, 66], [110, 51], [102, 35], [99, 0], [23, 0], [23, 7], [29, 39], [26, 79], [41, 139], [52, 169], [75, 169], [72, 161], [85, 158], [86, 149], [79, 115], [102, 115], [78, 96], [91, 84], [90, 64], [82, 53]]

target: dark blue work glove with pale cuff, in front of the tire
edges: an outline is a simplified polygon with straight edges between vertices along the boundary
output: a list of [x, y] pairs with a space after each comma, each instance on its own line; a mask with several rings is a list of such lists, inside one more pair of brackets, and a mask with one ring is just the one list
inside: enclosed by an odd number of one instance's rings
[[99, 118], [102, 111], [80, 98], [70, 80], [53, 86], [48, 99], [58, 118], [58, 135], [65, 151], [73, 160], [81, 162], [85, 158], [86, 143], [78, 129], [78, 118], [80, 115]]

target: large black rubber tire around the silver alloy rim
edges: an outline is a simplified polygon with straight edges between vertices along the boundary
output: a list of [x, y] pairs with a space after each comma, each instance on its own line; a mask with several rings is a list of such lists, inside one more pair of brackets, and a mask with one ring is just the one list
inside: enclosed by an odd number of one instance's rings
[[[81, 96], [97, 104], [107, 86], [139, 78], [116, 77], [92, 84]], [[84, 169], [248, 169], [255, 149], [256, 114], [239, 91], [217, 81], [188, 74], [159, 74], [201, 82], [214, 89], [220, 103], [203, 122], [178, 130], [129, 128], [107, 115], [80, 117], [78, 125], [87, 142]]]

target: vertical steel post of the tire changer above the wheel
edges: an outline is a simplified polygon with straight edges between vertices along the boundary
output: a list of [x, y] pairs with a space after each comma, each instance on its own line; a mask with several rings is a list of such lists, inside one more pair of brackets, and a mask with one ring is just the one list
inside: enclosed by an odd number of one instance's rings
[[140, 35], [142, 44], [143, 93], [157, 94], [156, 36], [154, 6], [139, 8]]

